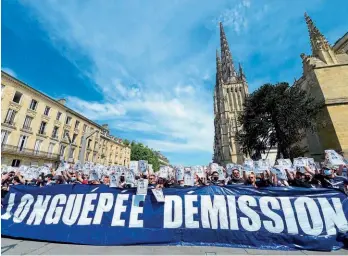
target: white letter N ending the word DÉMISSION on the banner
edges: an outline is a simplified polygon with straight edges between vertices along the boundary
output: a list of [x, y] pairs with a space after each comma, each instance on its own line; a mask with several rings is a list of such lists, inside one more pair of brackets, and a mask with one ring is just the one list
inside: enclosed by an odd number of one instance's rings
[[344, 215], [342, 204], [339, 198], [332, 198], [333, 209], [326, 198], [318, 198], [321, 210], [323, 211], [326, 233], [328, 235], [336, 235], [336, 228], [342, 233], [348, 231], [348, 223]]

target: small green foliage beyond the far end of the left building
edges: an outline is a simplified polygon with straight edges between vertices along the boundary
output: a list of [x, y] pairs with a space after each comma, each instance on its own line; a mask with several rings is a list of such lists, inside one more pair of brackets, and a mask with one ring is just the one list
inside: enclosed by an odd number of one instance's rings
[[132, 141], [130, 145], [132, 161], [147, 160], [149, 164], [152, 164], [152, 168], [155, 172], [159, 170], [160, 163], [153, 149], [144, 146], [142, 143], [136, 143], [135, 141]]

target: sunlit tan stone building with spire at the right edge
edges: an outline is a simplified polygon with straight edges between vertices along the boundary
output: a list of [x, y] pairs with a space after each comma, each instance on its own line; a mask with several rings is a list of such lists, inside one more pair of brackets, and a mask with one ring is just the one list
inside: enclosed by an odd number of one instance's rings
[[307, 155], [323, 159], [325, 149], [334, 149], [348, 158], [348, 33], [331, 46], [305, 14], [312, 48], [301, 54], [303, 75], [295, 81], [308, 95], [324, 103], [318, 131], [307, 132], [302, 145]]

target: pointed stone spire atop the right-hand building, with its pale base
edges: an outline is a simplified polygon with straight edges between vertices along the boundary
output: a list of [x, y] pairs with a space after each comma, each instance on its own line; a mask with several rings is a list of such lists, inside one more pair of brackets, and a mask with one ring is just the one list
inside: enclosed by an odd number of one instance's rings
[[312, 19], [304, 14], [309, 32], [309, 40], [312, 48], [312, 55], [318, 57], [327, 64], [337, 63], [336, 56], [323, 34], [315, 26]]

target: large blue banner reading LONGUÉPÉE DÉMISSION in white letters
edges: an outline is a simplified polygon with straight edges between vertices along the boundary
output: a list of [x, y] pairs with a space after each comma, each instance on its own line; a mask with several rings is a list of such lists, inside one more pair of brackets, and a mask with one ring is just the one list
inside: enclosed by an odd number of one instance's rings
[[214, 245], [335, 250], [348, 199], [333, 189], [164, 189], [165, 202], [105, 185], [12, 186], [3, 235], [91, 245]]

